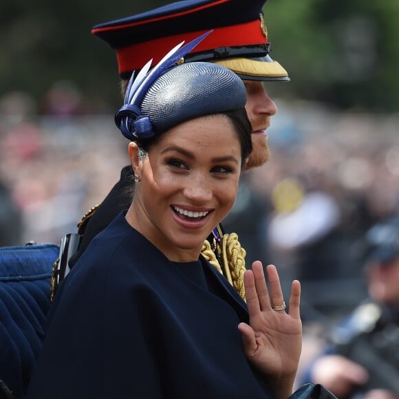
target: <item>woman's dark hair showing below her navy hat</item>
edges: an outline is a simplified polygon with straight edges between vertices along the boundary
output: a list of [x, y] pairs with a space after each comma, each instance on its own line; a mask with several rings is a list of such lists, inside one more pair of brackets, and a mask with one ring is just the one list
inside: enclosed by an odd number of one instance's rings
[[[250, 121], [248, 119], [248, 115], [246, 114], [245, 108], [224, 111], [220, 112], [217, 115], [224, 115], [232, 122], [237, 139], [239, 140], [239, 144], [241, 147], [241, 166], [243, 166], [244, 162], [252, 152], [252, 140], [251, 140], [252, 128], [250, 125]], [[140, 149], [140, 157], [144, 157], [148, 153], [149, 149], [155, 143], [157, 143], [158, 140], [160, 140], [162, 134], [163, 133], [148, 138], [146, 140], [136, 141]]]

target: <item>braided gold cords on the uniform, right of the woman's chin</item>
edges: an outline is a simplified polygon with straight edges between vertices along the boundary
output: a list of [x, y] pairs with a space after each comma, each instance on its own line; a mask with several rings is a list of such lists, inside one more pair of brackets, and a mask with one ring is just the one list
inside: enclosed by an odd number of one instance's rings
[[219, 273], [226, 277], [227, 281], [233, 285], [245, 301], [246, 250], [241, 247], [236, 233], [222, 234], [219, 226], [217, 226], [217, 230], [222, 239], [219, 242], [214, 239], [212, 246], [208, 241], [205, 241], [202, 246], [202, 255], [211, 265], [215, 266]]

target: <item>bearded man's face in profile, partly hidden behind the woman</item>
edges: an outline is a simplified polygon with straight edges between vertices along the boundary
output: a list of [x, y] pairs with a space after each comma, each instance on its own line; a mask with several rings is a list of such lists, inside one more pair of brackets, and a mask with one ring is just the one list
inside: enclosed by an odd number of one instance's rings
[[248, 159], [246, 169], [265, 164], [270, 155], [266, 129], [270, 126], [270, 118], [277, 113], [277, 106], [266, 94], [263, 83], [259, 80], [243, 80], [246, 87], [246, 111], [252, 125], [253, 150]]

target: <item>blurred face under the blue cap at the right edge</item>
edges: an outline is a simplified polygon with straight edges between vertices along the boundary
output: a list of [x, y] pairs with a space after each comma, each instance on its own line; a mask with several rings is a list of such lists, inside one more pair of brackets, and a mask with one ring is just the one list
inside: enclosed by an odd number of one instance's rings
[[371, 298], [399, 308], [399, 256], [385, 263], [370, 263], [367, 283]]

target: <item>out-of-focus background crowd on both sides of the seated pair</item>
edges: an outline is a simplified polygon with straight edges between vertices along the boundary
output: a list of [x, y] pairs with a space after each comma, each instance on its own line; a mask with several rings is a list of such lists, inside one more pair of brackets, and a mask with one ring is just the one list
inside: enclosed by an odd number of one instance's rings
[[[41, 105], [24, 93], [0, 97], [0, 246], [58, 244], [127, 164], [112, 110], [92, 114], [74, 87], [53, 89]], [[306, 363], [367, 297], [363, 237], [399, 211], [399, 116], [277, 103], [270, 161], [244, 174], [225, 227], [248, 263], [279, 267], [284, 290], [301, 279]]]

